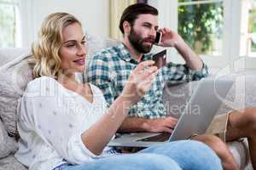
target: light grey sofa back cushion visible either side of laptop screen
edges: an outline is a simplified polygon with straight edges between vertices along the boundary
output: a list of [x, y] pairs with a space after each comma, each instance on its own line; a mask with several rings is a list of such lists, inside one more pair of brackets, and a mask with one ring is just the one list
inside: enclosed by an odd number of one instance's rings
[[[228, 113], [233, 110], [256, 107], [256, 76], [246, 73], [234, 73], [224, 78], [234, 80], [226, 99], [222, 99], [217, 115]], [[188, 104], [198, 82], [183, 83], [172, 86], [166, 85], [163, 99], [168, 113], [171, 116], [179, 117], [180, 113]]]

